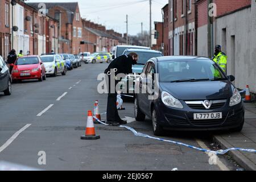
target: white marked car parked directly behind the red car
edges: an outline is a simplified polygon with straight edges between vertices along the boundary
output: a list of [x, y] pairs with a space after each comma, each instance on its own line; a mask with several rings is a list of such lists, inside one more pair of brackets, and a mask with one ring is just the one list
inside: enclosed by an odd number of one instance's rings
[[66, 75], [67, 67], [60, 55], [46, 55], [40, 57], [46, 67], [46, 75], [57, 76], [59, 73]]

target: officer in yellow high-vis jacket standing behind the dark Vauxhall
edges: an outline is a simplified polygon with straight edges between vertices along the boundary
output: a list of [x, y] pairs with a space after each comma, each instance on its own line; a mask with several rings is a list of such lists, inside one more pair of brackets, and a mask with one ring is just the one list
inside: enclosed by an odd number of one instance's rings
[[221, 46], [220, 45], [215, 46], [214, 56], [212, 60], [218, 65], [220, 65], [224, 73], [226, 73], [227, 59], [228, 59], [228, 56], [226, 56], [224, 52], [221, 52]]

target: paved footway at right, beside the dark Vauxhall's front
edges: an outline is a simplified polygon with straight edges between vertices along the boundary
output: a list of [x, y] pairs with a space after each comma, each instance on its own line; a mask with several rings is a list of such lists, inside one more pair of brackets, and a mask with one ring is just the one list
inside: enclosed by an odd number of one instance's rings
[[[256, 149], [256, 102], [245, 103], [245, 125], [240, 133], [215, 135], [214, 139], [221, 144], [222, 148]], [[244, 169], [256, 171], [255, 153], [230, 151], [229, 155]]]

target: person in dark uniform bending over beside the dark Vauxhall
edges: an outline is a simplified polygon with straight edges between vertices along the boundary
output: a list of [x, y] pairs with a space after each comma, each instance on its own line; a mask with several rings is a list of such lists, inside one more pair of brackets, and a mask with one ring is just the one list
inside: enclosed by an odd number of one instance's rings
[[[115, 76], [119, 73], [128, 75], [133, 73], [132, 65], [138, 61], [137, 53], [131, 52], [129, 55], [122, 55], [114, 59], [109, 67], [105, 70], [106, 80], [108, 85], [108, 106], [107, 106], [107, 124], [113, 126], [125, 125], [126, 121], [123, 121], [117, 110], [117, 90], [111, 89], [111, 82], [114, 81], [113, 86], [116, 86], [119, 81], [115, 80]], [[111, 92], [112, 91], [112, 92]]]

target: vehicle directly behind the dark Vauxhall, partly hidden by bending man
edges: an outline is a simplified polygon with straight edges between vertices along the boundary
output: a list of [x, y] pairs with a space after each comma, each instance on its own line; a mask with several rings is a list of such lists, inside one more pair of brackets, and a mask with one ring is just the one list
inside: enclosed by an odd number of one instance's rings
[[126, 78], [123, 78], [120, 84], [127, 85], [127, 93], [128, 95], [133, 95], [134, 92], [134, 85], [129, 85], [129, 81], [135, 82], [135, 79], [139, 77], [142, 72], [144, 65], [147, 63], [148, 60], [152, 59], [153, 57], [162, 57], [163, 53], [160, 51], [154, 51], [150, 49], [126, 49], [123, 52], [123, 55], [129, 55], [129, 53], [135, 52], [138, 54], [138, 61], [137, 64], [133, 65], [133, 73], [128, 75]]

